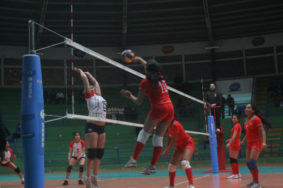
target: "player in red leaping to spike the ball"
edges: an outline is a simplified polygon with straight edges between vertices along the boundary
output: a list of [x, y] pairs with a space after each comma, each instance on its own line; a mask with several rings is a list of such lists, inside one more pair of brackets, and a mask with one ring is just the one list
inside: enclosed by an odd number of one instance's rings
[[141, 174], [150, 175], [156, 173], [155, 164], [162, 152], [163, 135], [173, 119], [174, 109], [168, 94], [166, 81], [161, 74], [162, 67], [154, 59], [145, 61], [141, 57], [134, 57], [133, 60], [134, 62], [139, 61], [145, 67], [146, 78], [140, 83], [137, 97], [134, 97], [131, 92], [125, 90], [121, 90], [121, 95], [125, 98], [130, 98], [137, 105], [140, 105], [145, 95], [147, 95], [151, 108], [145, 120], [144, 128], [138, 134], [134, 154], [125, 167], [136, 168], [137, 157], [143, 150], [150, 133], [156, 127], [155, 134], [152, 138], [152, 160], [148, 167], [144, 171], [141, 171]]

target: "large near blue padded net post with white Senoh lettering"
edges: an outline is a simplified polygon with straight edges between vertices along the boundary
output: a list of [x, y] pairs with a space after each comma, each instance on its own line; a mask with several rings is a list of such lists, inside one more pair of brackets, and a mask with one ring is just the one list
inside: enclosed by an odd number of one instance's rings
[[38, 55], [23, 56], [21, 105], [25, 188], [44, 188], [44, 105]]

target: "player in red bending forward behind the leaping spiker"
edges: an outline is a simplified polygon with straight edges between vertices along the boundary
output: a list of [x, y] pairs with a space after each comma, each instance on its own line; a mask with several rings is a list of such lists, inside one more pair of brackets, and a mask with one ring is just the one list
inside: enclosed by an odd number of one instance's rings
[[187, 187], [194, 188], [192, 180], [192, 170], [189, 162], [195, 148], [193, 139], [185, 132], [181, 123], [175, 120], [175, 118], [172, 120], [171, 124], [167, 128], [166, 135], [167, 141], [166, 148], [162, 154], [163, 158], [168, 156], [168, 152], [174, 147], [175, 143], [177, 143], [171, 158], [171, 162], [168, 165], [170, 185], [166, 188], [174, 187], [176, 165], [179, 163], [182, 157], [183, 160], [181, 164], [183, 169], [186, 171], [186, 175], [189, 180], [189, 185]]

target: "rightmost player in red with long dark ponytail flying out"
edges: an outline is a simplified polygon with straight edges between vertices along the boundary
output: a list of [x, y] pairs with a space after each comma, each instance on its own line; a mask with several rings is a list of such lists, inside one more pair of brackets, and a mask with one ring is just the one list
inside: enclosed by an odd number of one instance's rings
[[[267, 149], [266, 132], [264, 131], [262, 123], [265, 124], [268, 128], [271, 128], [272, 126], [270, 121], [267, 118], [263, 117], [253, 104], [246, 106], [245, 114], [247, 115], [247, 118], [244, 121], [244, 129], [246, 133], [243, 141], [241, 141], [239, 145], [241, 147], [242, 144], [247, 141], [245, 153], [246, 165], [253, 176], [253, 181], [247, 183], [246, 186], [252, 188], [261, 188], [260, 182], [258, 181], [258, 168], [256, 161], [261, 150]], [[262, 139], [260, 133], [262, 135]]]

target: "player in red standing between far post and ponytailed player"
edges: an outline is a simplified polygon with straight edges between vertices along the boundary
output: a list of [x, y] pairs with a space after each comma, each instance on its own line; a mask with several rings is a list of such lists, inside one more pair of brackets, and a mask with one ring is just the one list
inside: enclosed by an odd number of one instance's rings
[[232, 122], [234, 123], [234, 127], [231, 130], [231, 138], [226, 140], [226, 149], [229, 149], [230, 163], [232, 167], [232, 176], [227, 177], [227, 179], [238, 179], [241, 176], [239, 173], [239, 163], [237, 161], [239, 151], [241, 150], [239, 143], [241, 141], [241, 124], [239, 123], [240, 116], [233, 115]]

